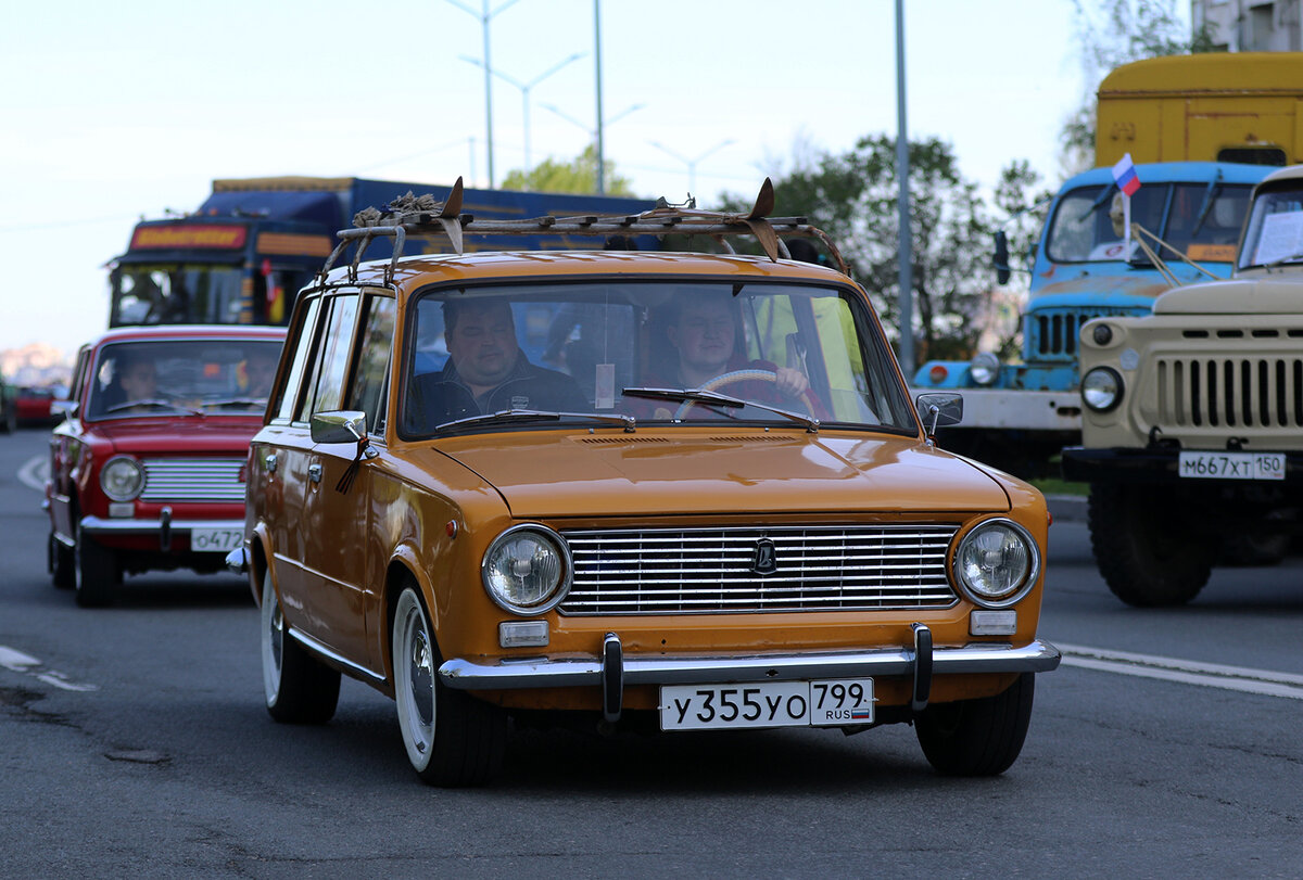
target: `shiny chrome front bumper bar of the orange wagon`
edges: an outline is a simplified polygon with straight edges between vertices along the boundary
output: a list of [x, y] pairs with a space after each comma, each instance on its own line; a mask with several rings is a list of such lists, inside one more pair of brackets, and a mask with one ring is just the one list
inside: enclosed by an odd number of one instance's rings
[[[1059, 665], [1059, 651], [1036, 639], [1015, 648], [1002, 644], [968, 644], [934, 648], [933, 681], [937, 676], [990, 672], [1050, 672]], [[853, 678], [856, 676], [908, 676], [913, 673], [915, 650], [872, 648], [833, 653], [766, 653], [741, 657], [646, 656], [623, 657], [625, 685], [705, 685], [743, 681], [801, 681], [808, 678]], [[602, 685], [601, 657], [521, 657], [495, 663], [452, 659], [439, 667], [439, 678], [459, 690], [517, 687], [586, 687]]]

